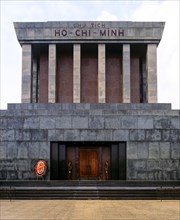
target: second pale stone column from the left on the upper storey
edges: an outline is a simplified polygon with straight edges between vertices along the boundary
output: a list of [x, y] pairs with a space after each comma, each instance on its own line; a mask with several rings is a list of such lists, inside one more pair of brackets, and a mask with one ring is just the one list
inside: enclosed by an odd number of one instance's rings
[[56, 44], [49, 44], [48, 102], [56, 102]]

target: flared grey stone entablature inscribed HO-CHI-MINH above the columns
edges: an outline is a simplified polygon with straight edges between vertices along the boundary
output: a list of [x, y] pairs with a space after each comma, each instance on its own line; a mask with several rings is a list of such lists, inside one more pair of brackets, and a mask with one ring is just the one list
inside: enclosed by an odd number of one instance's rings
[[15, 22], [17, 38], [21, 44], [52, 43], [78, 40], [96, 42], [156, 43], [161, 40], [164, 22]]

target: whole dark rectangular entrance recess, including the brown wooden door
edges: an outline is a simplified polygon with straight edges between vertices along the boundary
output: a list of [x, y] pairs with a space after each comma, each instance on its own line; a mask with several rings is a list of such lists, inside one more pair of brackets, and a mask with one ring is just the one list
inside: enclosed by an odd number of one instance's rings
[[126, 143], [52, 142], [51, 180], [126, 180]]

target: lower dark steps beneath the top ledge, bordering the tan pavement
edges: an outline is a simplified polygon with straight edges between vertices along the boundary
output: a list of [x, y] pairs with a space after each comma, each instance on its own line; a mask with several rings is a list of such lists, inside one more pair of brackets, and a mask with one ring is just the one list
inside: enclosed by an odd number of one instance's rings
[[1, 199], [180, 199], [180, 187], [0, 187]]

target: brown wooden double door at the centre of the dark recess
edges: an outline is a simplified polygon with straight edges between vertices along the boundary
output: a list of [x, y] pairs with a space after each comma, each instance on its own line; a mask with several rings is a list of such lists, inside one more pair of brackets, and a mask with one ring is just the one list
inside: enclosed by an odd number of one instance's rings
[[97, 149], [80, 149], [80, 179], [98, 178]]

